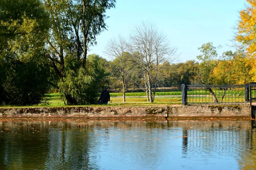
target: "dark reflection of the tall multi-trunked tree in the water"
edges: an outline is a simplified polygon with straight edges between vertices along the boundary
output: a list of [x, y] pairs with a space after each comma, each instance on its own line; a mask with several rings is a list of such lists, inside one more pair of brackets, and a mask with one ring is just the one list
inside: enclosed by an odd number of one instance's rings
[[89, 152], [96, 147], [88, 135], [88, 124], [57, 122], [49, 128], [49, 169], [99, 169], [90, 162]]

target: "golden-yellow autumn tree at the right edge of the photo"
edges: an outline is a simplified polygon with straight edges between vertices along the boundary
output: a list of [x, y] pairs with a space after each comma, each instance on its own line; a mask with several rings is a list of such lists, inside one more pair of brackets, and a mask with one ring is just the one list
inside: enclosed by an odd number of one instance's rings
[[246, 0], [248, 6], [240, 11], [236, 40], [246, 48], [247, 55], [233, 59], [237, 84], [256, 82], [256, 0]]

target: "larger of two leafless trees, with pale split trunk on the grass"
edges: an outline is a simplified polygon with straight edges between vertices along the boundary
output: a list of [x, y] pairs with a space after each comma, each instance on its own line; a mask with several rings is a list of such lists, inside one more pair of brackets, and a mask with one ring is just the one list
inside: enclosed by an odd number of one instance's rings
[[155, 24], [142, 22], [131, 31], [128, 49], [133, 62], [139, 65], [144, 73], [149, 100], [154, 102], [163, 63], [171, 63], [177, 59], [177, 48], [170, 46], [166, 34], [159, 31]]

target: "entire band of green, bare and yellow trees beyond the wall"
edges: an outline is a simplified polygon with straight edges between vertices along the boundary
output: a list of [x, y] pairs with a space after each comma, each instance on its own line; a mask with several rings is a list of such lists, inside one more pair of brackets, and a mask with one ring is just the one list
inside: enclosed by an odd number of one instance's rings
[[256, 37], [250, 20], [256, 14], [250, 11], [256, 2], [247, 1], [236, 28], [236, 51], [219, 56], [221, 47], [208, 42], [198, 48], [197, 60], [178, 62], [177, 48], [148, 22], [127, 38], [109, 40], [105, 55], [111, 61], [87, 55], [106, 30], [105, 12], [116, 0], [1, 0], [0, 105], [47, 103], [45, 94], [52, 91], [67, 105], [96, 104], [104, 86], [122, 92], [123, 102], [128, 89], [142, 88], [154, 102], [158, 87], [254, 82]]

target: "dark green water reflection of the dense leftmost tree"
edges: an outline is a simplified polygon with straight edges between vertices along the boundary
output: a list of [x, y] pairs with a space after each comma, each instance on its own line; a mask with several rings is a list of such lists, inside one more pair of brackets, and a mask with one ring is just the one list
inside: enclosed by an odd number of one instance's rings
[[3, 122], [0, 133], [0, 169], [42, 168], [48, 153], [47, 133], [38, 124]]

